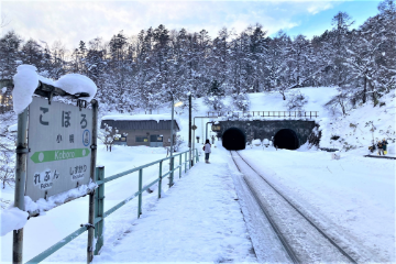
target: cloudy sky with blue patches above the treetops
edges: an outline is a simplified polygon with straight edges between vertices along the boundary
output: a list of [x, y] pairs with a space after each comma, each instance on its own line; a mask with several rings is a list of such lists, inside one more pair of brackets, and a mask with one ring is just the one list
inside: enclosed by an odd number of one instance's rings
[[348, 12], [361, 25], [377, 13], [378, 1], [4, 1], [1, 14], [10, 23], [0, 34], [14, 30], [52, 44], [62, 41], [68, 50], [101, 36], [105, 41], [121, 30], [128, 36], [150, 26], [168, 30], [207, 30], [213, 37], [222, 26], [238, 33], [260, 23], [268, 35], [284, 30], [308, 37], [330, 30], [339, 11]]

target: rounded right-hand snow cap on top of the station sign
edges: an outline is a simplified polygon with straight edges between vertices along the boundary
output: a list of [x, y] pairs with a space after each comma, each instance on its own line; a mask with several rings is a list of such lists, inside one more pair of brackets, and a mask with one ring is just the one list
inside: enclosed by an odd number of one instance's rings
[[89, 97], [82, 97], [87, 101], [92, 100], [98, 90], [97, 86], [90, 78], [79, 74], [64, 75], [55, 81], [55, 86], [70, 95], [87, 92]]

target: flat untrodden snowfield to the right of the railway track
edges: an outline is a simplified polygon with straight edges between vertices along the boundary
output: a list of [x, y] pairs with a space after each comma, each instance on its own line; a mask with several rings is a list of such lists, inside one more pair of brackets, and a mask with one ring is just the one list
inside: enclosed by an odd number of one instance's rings
[[395, 262], [394, 161], [273, 147], [240, 153], [361, 260]]

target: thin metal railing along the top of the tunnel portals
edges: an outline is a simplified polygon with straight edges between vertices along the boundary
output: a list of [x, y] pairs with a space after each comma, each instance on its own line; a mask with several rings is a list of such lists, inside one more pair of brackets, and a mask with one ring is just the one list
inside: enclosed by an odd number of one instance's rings
[[229, 118], [318, 118], [319, 111], [224, 111], [208, 112], [208, 118], [229, 117]]

